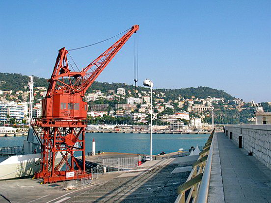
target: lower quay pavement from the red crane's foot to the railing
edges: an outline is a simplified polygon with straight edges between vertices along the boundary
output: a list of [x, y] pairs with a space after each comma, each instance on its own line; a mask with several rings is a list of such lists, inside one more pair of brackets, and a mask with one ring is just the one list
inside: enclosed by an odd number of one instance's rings
[[[41, 179], [29, 178], [2, 180], [0, 203], [8, 203], [7, 200], [12, 203], [103, 202], [109, 199], [109, 202], [117, 202], [128, 196], [131, 197], [127, 199], [129, 202], [135, 193], [141, 202], [146, 200], [144, 195], [147, 193], [150, 194], [148, 202], [160, 198], [165, 202], [174, 202], [177, 197], [176, 187], [185, 182], [197, 157], [198, 155], [171, 158], [168, 154], [167, 158], [145, 162], [135, 170], [103, 175], [96, 173], [92, 184], [82, 187], [78, 181], [80, 187], [72, 191], [63, 190], [64, 182], [41, 184]], [[153, 195], [156, 199], [153, 199]]]

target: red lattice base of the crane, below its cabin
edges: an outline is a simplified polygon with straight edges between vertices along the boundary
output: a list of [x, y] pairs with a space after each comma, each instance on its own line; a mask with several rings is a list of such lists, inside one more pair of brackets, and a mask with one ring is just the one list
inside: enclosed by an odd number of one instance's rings
[[[44, 184], [74, 178], [91, 178], [91, 174], [85, 172], [85, 164], [80, 164], [75, 156], [75, 153], [81, 152], [82, 163], [85, 163], [85, 121], [33, 119], [31, 126], [35, 133], [37, 127], [41, 128], [40, 138], [43, 143], [41, 171], [35, 173], [35, 178], [43, 178]], [[57, 154], [61, 154], [62, 158], [56, 164]], [[61, 170], [64, 163], [65, 171]], [[70, 172], [74, 172], [71, 177], [67, 176]]]

